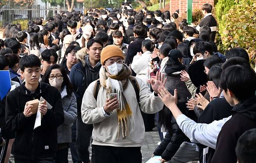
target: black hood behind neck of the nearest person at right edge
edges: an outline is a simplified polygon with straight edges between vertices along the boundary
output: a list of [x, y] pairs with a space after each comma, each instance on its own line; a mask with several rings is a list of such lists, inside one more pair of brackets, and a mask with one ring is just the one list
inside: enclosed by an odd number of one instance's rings
[[241, 113], [247, 118], [252, 120], [256, 120], [256, 96], [251, 96], [250, 98], [240, 101], [237, 105], [232, 109], [232, 116], [235, 113]]

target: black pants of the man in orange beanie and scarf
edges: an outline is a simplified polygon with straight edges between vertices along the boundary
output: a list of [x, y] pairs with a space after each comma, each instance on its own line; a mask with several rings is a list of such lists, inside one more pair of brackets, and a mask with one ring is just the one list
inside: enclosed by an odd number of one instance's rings
[[141, 147], [113, 147], [91, 145], [94, 154], [92, 163], [141, 163]]

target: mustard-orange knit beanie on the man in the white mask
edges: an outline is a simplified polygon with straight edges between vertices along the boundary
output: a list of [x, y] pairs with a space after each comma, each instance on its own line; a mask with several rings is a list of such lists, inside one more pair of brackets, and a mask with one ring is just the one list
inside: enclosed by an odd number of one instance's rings
[[105, 48], [103, 48], [100, 53], [101, 64], [103, 65], [106, 60], [112, 57], [121, 57], [124, 60], [124, 53], [121, 50], [121, 48], [119, 48], [116, 45], [108, 45]]

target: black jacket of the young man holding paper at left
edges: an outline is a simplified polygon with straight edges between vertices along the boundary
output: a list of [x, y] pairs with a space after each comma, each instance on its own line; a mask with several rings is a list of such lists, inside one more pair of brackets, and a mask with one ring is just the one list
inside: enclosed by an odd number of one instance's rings
[[[6, 97], [5, 120], [7, 130], [16, 132], [12, 146], [14, 158], [35, 160], [56, 156], [57, 127], [64, 122], [61, 95], [58, 89], [46, 83], [39, 84], [31, 93], [25, 84], [11, 91]], [[41, 126], [34, 129], [36, 114], [25, 117], [27, 101], [43, 97], [51, 106], [42, 117]]]

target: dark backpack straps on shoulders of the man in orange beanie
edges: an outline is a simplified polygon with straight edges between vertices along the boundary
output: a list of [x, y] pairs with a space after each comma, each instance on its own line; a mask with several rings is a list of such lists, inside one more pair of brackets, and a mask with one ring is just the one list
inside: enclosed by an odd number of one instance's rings
[[[137, 102], [139, 104], [139, 101], [140, 101], [140, 87], [139, 87], [139, 84], [138, 84], [136, 78], [133, 77], [133, 76], [130, 76], [129, 80], [132, 83], [133, 89], [134, 89], [134, 91], [136, 93], [136, 99], [137, 99]], [[98, 79], [96, 84], [95, 84], [95, 86], [94, 86], [94, 91], [93, 91], [93, 96], [96, 99], [96, 101], [97, 101], [97, 97], [98, 97], [98, 93], [99, 93], [100, 87], [101, 87], [100, 79]]]

